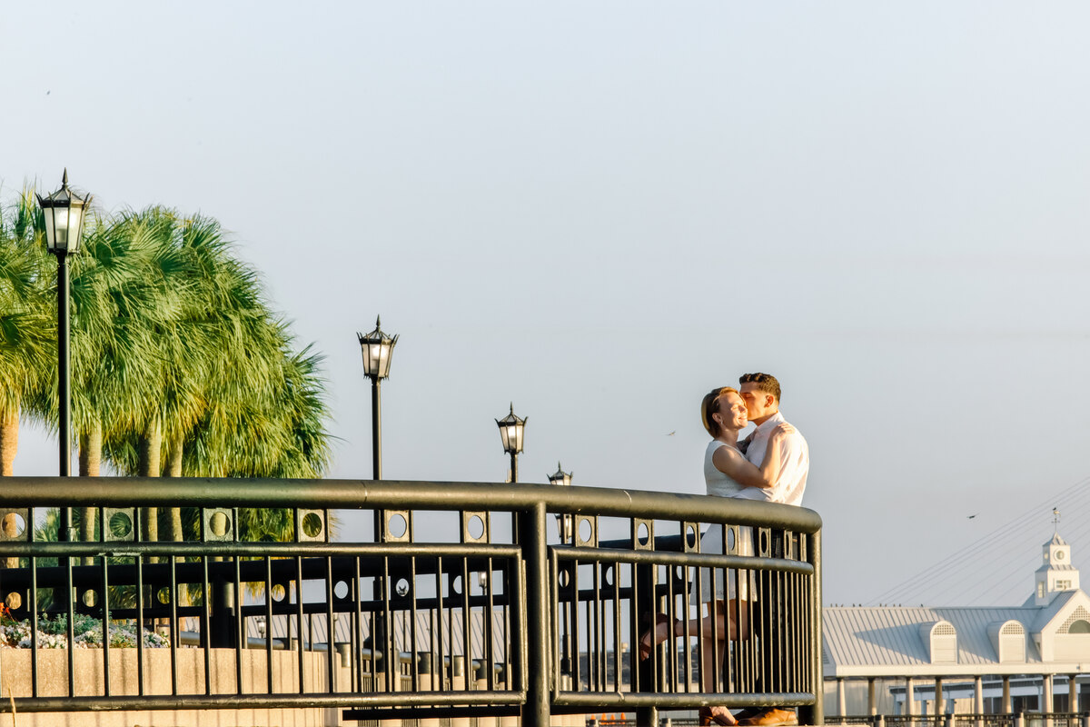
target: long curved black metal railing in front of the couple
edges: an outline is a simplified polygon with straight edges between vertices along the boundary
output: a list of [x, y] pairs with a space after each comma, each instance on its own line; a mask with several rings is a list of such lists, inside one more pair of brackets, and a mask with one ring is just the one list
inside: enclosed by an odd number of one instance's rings
[[[96, 540], [50, 540], [57, 508], [93, 513]], [[186, 540], [141, 537], [171, 508], [194, 523]], [[331, 538], [331, 511], [377, 513], [379, 537], [361, 524]], [[247, 540], [269, 512], [280, 540]], [[701, 553], [715, 523], [722, 553]], [[0, 524], [0, 642], [22, 642], [0, 649], [13, 698], [0, 712], [652, 724], [723, 704], [822, 723], [821, 520], [803, 508], [522, 484], [9, 477]], [[716, 579], [750, 594], [730, 603], [732, 637], [700, 618]], [[643, 659], [659, 619], [678, 635]]]

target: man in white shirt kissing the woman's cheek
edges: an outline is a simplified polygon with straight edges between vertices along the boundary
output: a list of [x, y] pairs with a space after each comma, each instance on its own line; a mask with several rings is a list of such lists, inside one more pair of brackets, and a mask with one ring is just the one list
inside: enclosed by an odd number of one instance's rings
[[[768, 451], [768, 438], [772, 431], [783, 423], [784, 415], [779, 413], [779, 381], [770, 374], [743, 374], [739, 377], [739, 393], [746, 402], [746, 413], [749, 420], [756, 425], [756, 429], [746, 438], [746, 459], [761, 467], [764, 457]], [[807, 440], [796, 429], [792, 434], [779, 440], [779, 472], [772, 487], [747, 488], [739, 497], [749, 499], [765, 499], [772, 502], [784, 502], [786, 505], [801, 505], [802, 494], [807, 488], [807, 475], [810, 471], [810, 448]], [[773, 557], [783, 557], [783, 542], [774, 541]], [[783, 614], [783, 596], [776, 582], [767, 580], [762, 584], [760, 603], [764, 604], [761, 621], [767, 627], [763, 641], [765, 652], [764, 663], [766, 667], [772, 666], [776, 654], [782, 653], [783, 638], [780, 634]], [[773, 687], [772, 669], [763, 669], [762, 680], [766, 689]], [[780, 710], [765, 707], [760, 710], [744, 710], [737, 715], [739, 725], [760, 725], [770, 727], [772, 725], [797, 725], [798, 717], [794, 710]]]

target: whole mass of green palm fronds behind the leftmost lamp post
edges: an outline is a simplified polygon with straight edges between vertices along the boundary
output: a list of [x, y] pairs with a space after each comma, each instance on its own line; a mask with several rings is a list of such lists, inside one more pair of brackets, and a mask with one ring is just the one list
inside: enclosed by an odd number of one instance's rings
[[[40, 230], [31, 190], [0, 210], [0, 415], [56, 429], [56, 263]], [[126, 475], [323, 476], [322, 356], [295, 349], [218, 221], [165, 207], [92, 215], [70, 266], [73, 428], [101, 432], [82, 461]], [[243, 519], [247, 538], [291, 536], [290, 513], [258, 512]], [[171, 533], [164, 509], [159, 532], [191, 537], [187, 514], [189, 532]]]

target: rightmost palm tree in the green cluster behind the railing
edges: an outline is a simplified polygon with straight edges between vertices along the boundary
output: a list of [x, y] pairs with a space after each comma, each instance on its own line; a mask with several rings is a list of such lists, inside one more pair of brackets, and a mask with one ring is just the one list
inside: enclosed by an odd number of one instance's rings
[[[166, 476], [319, 476], [328, 445], [318, 356], [292, 356], [287, 326], [269, 312], [257, 272], [232, 255], [216, 220], [174, 217], [172, 223], [170, 244], [181, 259], [173, 275], [189, 287], [177, 299], [179, 314], [154, 330], [158, 405], [144, 411], [141, 427], [108, 443], [111, 459], [120, 471], [145, 476], [160, 470]], [[266, 516], [271, 524], [255, 532], [290, 536], [282, 532], [289, 516]], [[173, 540], [194, 532], [180, 508], [162, 524]]]

